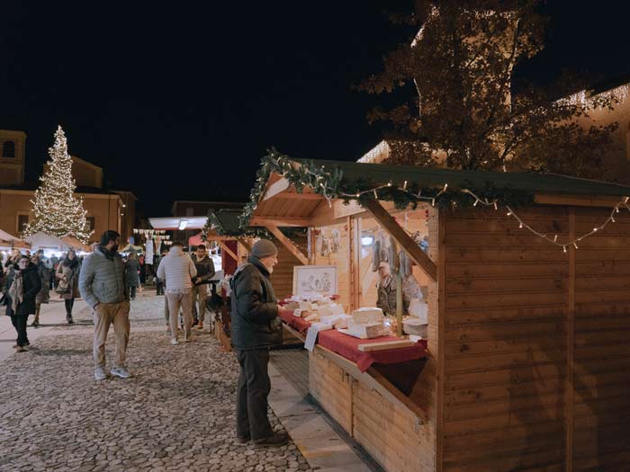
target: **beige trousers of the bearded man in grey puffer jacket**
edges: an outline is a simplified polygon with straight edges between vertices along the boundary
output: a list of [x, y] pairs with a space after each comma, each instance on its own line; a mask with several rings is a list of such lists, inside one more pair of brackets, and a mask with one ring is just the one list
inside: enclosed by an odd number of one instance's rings
[[129, 301], [99, 303], [94, 308], [94, 365], [105, 367], [105, 343], [107, 332], [113, 324], [116, 336], [116, 359], [114, 367], [125, 366], [125, 354], [129, 343]]

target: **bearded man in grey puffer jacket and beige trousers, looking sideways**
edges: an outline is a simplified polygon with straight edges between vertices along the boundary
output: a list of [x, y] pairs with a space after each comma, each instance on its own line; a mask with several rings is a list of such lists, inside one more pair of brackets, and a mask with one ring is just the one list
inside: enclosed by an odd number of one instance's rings
[[125, 268], [118, 247], [121, 235], [108, 229], [101, 236], [101, 244], [94, 247], [83, 262], [79, 290], [94, 310], [94, 378], [103, 380], [105, 373], [105, 343], [110, 325], [116, 336], [116, 357], [110, 374], [129, 378], [125, 360], [129, 344], [129, 293]]

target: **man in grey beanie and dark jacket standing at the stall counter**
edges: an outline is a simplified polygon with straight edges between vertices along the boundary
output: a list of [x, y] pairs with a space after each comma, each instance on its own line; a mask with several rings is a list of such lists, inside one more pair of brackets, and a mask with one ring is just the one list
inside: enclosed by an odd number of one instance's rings
[[267, 418], [271, 381], [267, 373], [269, 348], [282, 343], [278, 305], [269, 275], [278, 263], [278, 250], [266, 239], [252, 246], [247, 263], [229, 281], [232, 346], [240, 364], [237, 387], [237, 443], [281, 446], [286, 433], [277, 433]]

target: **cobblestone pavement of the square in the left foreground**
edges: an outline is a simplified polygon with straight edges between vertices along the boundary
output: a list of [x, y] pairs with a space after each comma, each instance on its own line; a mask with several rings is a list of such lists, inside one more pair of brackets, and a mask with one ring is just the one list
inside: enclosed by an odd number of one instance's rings
[[234, 356], [209, 333], [170, 345], [162, 313], [161, 298], [132, 302], [132, 378], [93, 379], [88, 309], [0, 363], [0, 470], [311, 470], [293, 442], [235, 444]]

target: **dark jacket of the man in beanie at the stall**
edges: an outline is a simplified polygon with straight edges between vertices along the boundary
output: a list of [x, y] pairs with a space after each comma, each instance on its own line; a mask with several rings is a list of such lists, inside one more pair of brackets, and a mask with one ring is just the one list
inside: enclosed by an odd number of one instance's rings
[[249, 256], [229, 284], [232, 345], [250, 351], [282, 343], [277, 299], [265, 265], [257, 257]]

